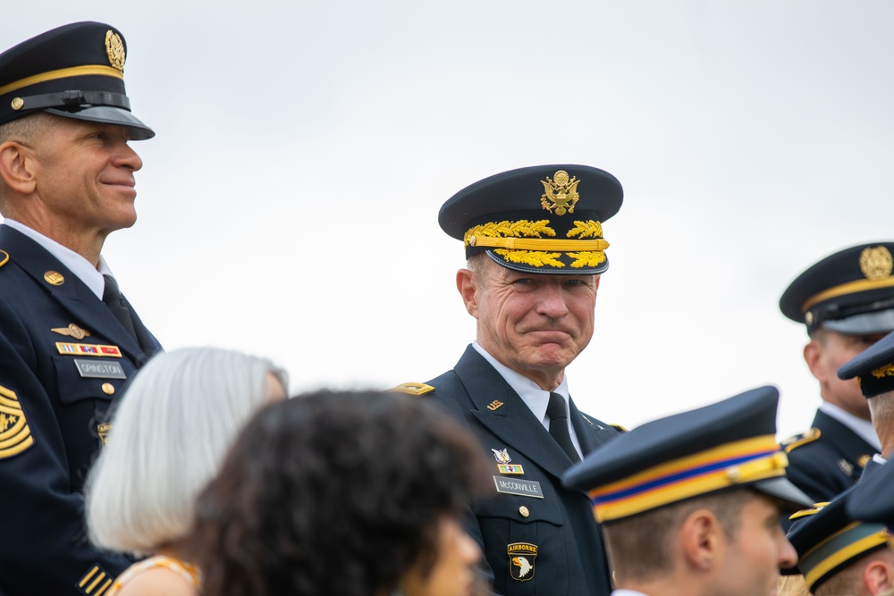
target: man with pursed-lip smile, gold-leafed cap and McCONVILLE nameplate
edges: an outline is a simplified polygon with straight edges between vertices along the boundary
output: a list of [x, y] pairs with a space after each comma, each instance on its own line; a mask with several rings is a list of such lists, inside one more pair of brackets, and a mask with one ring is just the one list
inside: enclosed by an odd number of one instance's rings
[[477, 338], [453, 370], [403, 390], [448, 408], [492, 458], [495, 491], [472, 503], [468, 531], [498, 593], [611, 589], [586, 495], [560, 478], [619, 432], [578, 411], [565, 368], [593, 337], [602, 223], [622, 198], [608, 172], [543, 165], [480, 180], [441, 209], [442, 229], [466, 248], [456, 285]]

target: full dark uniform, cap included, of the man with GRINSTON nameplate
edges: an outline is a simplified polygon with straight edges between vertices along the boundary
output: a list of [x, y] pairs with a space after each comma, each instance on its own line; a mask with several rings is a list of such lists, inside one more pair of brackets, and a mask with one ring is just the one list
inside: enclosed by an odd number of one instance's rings
[[[126, 54], [120, 31], [92, 21], [46, 31], [0, 54], [0, 125], [13, 124], [9, 141], [24, 145], [13, 121], [44, 113], [89, 122], [91, 130], [122, 127], [130, 141], [152, 138], [155, 132], [131, 113], [123, 79]], [[54, 118], [45, 121], [52, 130], [61, 125]], [[32, 141], [38, 149], [44, 142]], [[52, 172], [52, 164], [48, 167]], [[13, 217], [33, 216], [28, 201], [55, 198], [37, 190], [8, 191], [6, 214]], [[83, 199], [83, 193], [74, 194]], [[77, 220], [76, 210], [86, 207], [74, 204], [67, 216]], [[38, 225], [43, 238], [38, 231], [30, 236], [31, 229], [21, 223], [0, 225], [0, 592], [5, 596], [102, 596], [129, 564], [89, 545], [82, 490], [108, 432], [111, 400], [160, 347], [114, 278], [106, 276], [104, 303], [63, 262], [85, 276], [93, 273], [92, 264], [58, 239], [44, 242], [46, 230], [66, 227], [68, 220], [59, 220], [53, 209], [46, 212]]]

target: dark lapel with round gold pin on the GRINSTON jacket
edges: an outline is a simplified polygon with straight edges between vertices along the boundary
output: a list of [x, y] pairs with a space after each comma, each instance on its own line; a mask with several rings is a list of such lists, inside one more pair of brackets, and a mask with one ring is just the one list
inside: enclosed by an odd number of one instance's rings
[[[60, 306], [71, 313], [72, 323], [77, 321], [88, 331], [104, 336], [138, 365], [148, 360], [137, 342], [124, 330], [121, 323], [118, 323], [103, 301], [45, 248], [8, 226], [0, 226], [0, 248], [9, 253], [12, 263], [17, 264], [34, 278], [34, 281], [46, 289]], [[62, 273], [63, 282], [53, 285], [46, 281], [45, 274], [48, 271]]]

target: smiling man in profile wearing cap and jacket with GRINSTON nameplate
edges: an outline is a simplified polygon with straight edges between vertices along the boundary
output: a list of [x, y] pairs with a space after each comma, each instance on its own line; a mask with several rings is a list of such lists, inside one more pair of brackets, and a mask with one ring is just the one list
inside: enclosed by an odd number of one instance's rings
[[136, 221], [126, 46], [80, 22], [0, 55], [0, 589], [101, 596], [130, 561], [92, 548], [82, 486], [105, 413], [158, 342], [101, 256]]

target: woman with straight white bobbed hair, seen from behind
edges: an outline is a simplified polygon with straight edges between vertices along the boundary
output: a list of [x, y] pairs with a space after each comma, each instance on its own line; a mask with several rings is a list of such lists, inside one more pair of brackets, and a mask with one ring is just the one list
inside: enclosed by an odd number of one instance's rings
[[198, 569], [181, 545], [198, 492], [242, 425], [284, 399], [287, 383], [266, 359], [216, 348], [160, 354], [143, 367], [90, 471], [87, 525], [97, 546], [154, 556], [125, 570], [105, 596], [198, 593]]

